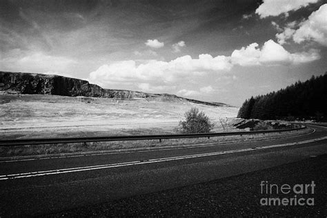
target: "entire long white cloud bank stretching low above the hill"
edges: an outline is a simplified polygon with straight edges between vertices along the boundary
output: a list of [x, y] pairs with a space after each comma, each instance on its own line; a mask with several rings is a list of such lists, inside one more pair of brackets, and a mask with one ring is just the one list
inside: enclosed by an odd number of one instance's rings
[[[231, 56], [212, 57], [210, 54], [200, 54], [197, 59], [185, 55], [171, 61], [147, 60], [119, 61], [105, 64], [91, 72], [88, 80], [103, 88], [133, 87], [146, 92], [171, 92], [179, 89], [184, 96], [199, 95], [212, 92], [213, 88], [206, 86], [201, 90], [188, 90], [186, 85], [192, 81], [205, 83], [205, 78], [225, 77], [233, 66], [279, 66], [306, 63], [319, 59], [317, 50], [290, 53], [273, 40], [266, 41], [259, 48], [258, 43], [234, 50]], [[237, 77], [228, 76], [230, 81]], [[200, 86], [201, 87], [201, 86]], [[200, 93], [201, 92], [201, 93]]]

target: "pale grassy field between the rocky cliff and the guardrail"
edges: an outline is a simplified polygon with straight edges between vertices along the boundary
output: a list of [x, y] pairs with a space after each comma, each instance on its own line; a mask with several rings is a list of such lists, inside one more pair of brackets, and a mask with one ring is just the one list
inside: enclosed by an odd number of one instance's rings
[[171, 134], [192, 107], [203, 110], [215, 122], [217, 132], [228, 128], [239, 109], [166, 97], [122, 100], [0, 95], [0, 134], [6, 139]]

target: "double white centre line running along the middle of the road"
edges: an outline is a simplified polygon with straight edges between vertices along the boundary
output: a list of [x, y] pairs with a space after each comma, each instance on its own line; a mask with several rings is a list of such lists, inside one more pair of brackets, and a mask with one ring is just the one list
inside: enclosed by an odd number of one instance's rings
[[261, 146], [261, 147], [256, 147], [256, 148], [244, 148], [244, 149], [226, 150], [226, 151], [220, 151], [220, 152], [209, 152], [209, 153], [203, 153], [203, 154], [197, 154], [197, 155], [165, 157], [165, 158], [159, 158], [159, 159], [149, 159], [147, 161], [131, 161], [131, 162], [126, 162], [126, 163], [104, 164], [104, 165], [97, 165], [97, 166], [83, 166], [83, 167], [78, 167], [78, 168], [63, 168], [63, 169], [58, 169], [58, 170], [23, 172], [23, 173], [18, 173], [18, 174], [11, 174], [11, 175], [0, 175], [0, 180], [19, 179], [19, 178], [26, 178], [26, 177], [37, 177], [37, 176], [43, 176], [43, 175], [55, 175], [55, 174], [63, 174], [63, 173], [68, 173], [68, 172], [81, 172], [81, 171], [86, 171], [86, 170], [99, 170], [99, 169], [105, 169], [105, 168], [117, 168], [117, 167], [122, 167], [122, 166], [152, 164], [152, 163], [158, 163], [158, 162], [164, 162], [164, 161], [175, 161], [175, 160], [179, 160], [179, 159], [208, 157], [208, 156], [213, 156], [213, 155], [224, 155], [224, 154], [230, 154], [230, 153], [236, 153], [236, 152], [245, 152], [245, 151], [250, 151], [250, 150], [261, 150], [261, 149], [267, 149], [267, 148], [294, 146], [294, 145], [299, 145], [299, 144], [303, 144], [303, 143], [321, 141], [324, 139], [327, 139], [327, 137], [320, 137], [317, 139], [310, 139], [310, 140], [306, 140], [306, 141], [298, 141], [298, 142], [293, 142], [293, 143], [283, 143], [283, 144], [277, 144], [277, 145], [273, 145], [273, 146]]

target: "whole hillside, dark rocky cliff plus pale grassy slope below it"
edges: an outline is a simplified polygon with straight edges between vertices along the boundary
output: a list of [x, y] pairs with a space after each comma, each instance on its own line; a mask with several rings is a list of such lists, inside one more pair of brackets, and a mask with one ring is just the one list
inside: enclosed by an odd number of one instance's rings
[[0, 135], [6, 138], [175, 133], [184, 112], [192, 107], [204, 111], [221, 131], [221, 120], [236, 117], [239, 109], [29, 73], [0, 72], [1, 92]]

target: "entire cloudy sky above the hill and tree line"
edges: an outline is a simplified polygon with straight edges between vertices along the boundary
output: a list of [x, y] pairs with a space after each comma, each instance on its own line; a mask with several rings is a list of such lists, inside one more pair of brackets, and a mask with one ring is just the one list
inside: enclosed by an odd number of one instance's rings
[[327, 71], [327, 1], [0, 1], [0, 70], [241, 106]]

